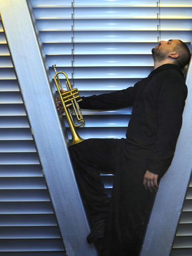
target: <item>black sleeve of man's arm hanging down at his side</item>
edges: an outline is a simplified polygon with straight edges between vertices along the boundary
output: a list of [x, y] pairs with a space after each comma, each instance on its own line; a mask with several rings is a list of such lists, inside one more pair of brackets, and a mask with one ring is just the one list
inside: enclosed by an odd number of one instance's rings
[[160, 174], [171, 164], [182, 125], [182, 113], [187, 96], [184, 80], [165, 77], [158, 97], [158, 131], [148, 170]]

